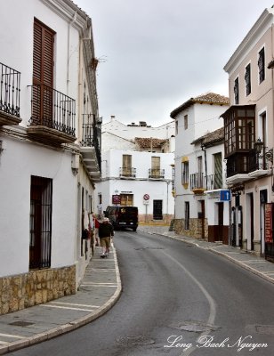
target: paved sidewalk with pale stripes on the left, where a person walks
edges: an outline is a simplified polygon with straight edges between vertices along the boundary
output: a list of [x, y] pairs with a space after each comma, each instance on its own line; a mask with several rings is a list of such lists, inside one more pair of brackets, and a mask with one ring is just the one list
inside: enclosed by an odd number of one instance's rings
[[1, 315], [0, 355], [67, 333], [107, 312], [122, 286], [115, 248], [109, 258], [100, 255], [101, 247], [95, 247], [76, 295]]

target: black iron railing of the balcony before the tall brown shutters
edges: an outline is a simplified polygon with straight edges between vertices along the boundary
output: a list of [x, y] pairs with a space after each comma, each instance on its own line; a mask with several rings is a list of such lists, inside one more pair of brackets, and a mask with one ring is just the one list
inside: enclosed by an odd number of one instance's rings
[[30, 125], [42, 125], [76, 135], [76, 101], [48, 85], [31, 86]]

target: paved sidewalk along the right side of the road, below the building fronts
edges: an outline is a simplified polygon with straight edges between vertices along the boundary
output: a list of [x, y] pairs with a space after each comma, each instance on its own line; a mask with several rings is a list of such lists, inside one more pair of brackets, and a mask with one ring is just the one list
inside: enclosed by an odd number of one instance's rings
[[274, 283], [274, 263], [270, 263], [263, 257], [241, 250], [239, 247], [231, 247], [222, 245], [221, 242], [207, 242], [202, 239], [193, 239], [186, 236], [177, 235], [173, 231], [168, 231], [168, 227], [166, 226], [141, 226], [139, 230], [148, 233], [164, 235], [171, 239], [177, 239], [185, 243], [204, 248], [213, 252], [214, 254], [222, 255], [233, 263], [238, 264], [242, 268], [245, 268], [246, 270], [262, 277], [263, 279]]

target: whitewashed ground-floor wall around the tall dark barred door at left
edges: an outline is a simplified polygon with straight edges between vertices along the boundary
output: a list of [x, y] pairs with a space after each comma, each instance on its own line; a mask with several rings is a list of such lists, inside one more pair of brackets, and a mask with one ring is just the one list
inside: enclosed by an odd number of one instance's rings
[[71, 154], [51, 151], [49, 155], [48, 149], [37, 150], [36, 145], [28, 142], [7, 137], [2, 140], [0, 276], [28, 271], [31, 175], [52, 178], [52, 267], [73, 264], [74, 239], [69, 237], [76, 230], [73, 206], [77, 182], [70, 169]]

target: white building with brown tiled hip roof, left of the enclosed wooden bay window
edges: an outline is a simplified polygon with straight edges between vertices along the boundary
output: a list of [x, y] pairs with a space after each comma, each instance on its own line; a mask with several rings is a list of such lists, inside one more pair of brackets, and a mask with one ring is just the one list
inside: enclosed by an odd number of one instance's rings
[[174, 230], [210, 241], [229, 239], [229, 203], [223, 165], [223, 122], [229, 99], [215, 93], [191, 98], [174, 109], [175, 219]]

